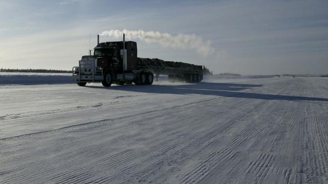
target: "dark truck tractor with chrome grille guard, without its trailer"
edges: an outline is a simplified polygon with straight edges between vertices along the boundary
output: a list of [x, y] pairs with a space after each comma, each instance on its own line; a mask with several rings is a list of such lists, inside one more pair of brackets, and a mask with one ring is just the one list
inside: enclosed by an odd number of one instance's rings
[[138, 70], [137, 43], [134, 41], [101, 42], [93, 55], [83, 56], [73, 67], [73, 81], [80, 86], [87, 82], [101, 82], [108, 87], [118, 85], [145, 85], [153, 83], [153, 72]]

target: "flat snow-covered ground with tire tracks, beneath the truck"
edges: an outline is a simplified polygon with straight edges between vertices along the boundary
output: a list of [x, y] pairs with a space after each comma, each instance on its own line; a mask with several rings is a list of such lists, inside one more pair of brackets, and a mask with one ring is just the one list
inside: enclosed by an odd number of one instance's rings
[[0, 85], [0, 181], [328, 182], [327, 79], [205, 81]]

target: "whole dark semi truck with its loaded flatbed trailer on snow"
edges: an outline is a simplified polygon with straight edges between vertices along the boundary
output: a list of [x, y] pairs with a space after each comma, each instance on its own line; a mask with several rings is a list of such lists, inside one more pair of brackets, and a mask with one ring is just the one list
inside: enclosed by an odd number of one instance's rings
[[79, 86], [90, 82], [101, 82], [109, 87], [136, 84], [151, 85], [159, 75], [168, 75], [169, 81], [200, 82], [203, 79], [203, 66], [164, 61], [161, 59], [138, 58], [135, 41], [99, 42], [89, 55], [82, 56], [78, 66], [73, 67], [73, 81]]

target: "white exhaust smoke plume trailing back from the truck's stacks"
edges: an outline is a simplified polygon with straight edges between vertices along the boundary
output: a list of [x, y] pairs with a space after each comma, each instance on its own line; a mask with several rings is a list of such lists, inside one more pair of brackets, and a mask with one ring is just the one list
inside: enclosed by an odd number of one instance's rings
[[197, 51], [202, 56], [209, 56], [214, 53], [211, 46], [211, 41], [203, 41], [200, 37], [194, 34], [178, 34], [173, 36], [169, 33], [160, 33], [158, 31], [133, 31], [133, 30], [110, 30], [100, 33], [100, 36], [114, 36], [121, 38], [123, 33], [129, 39], [139, 39], [147, 43], [159, 43], [165, 47], [192, 49]]

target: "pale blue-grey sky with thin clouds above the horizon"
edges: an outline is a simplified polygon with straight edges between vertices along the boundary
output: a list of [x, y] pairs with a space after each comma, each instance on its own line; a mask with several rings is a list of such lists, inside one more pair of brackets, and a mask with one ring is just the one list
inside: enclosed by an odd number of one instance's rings
[[[213, 73], [328, 74], [328, 1], [1, 1], [0, 67], [71, 70], [106, 30], [195, 34], [215, 53], [134, 40]], [[104, 36], [100, 41], [118, 41]]]

